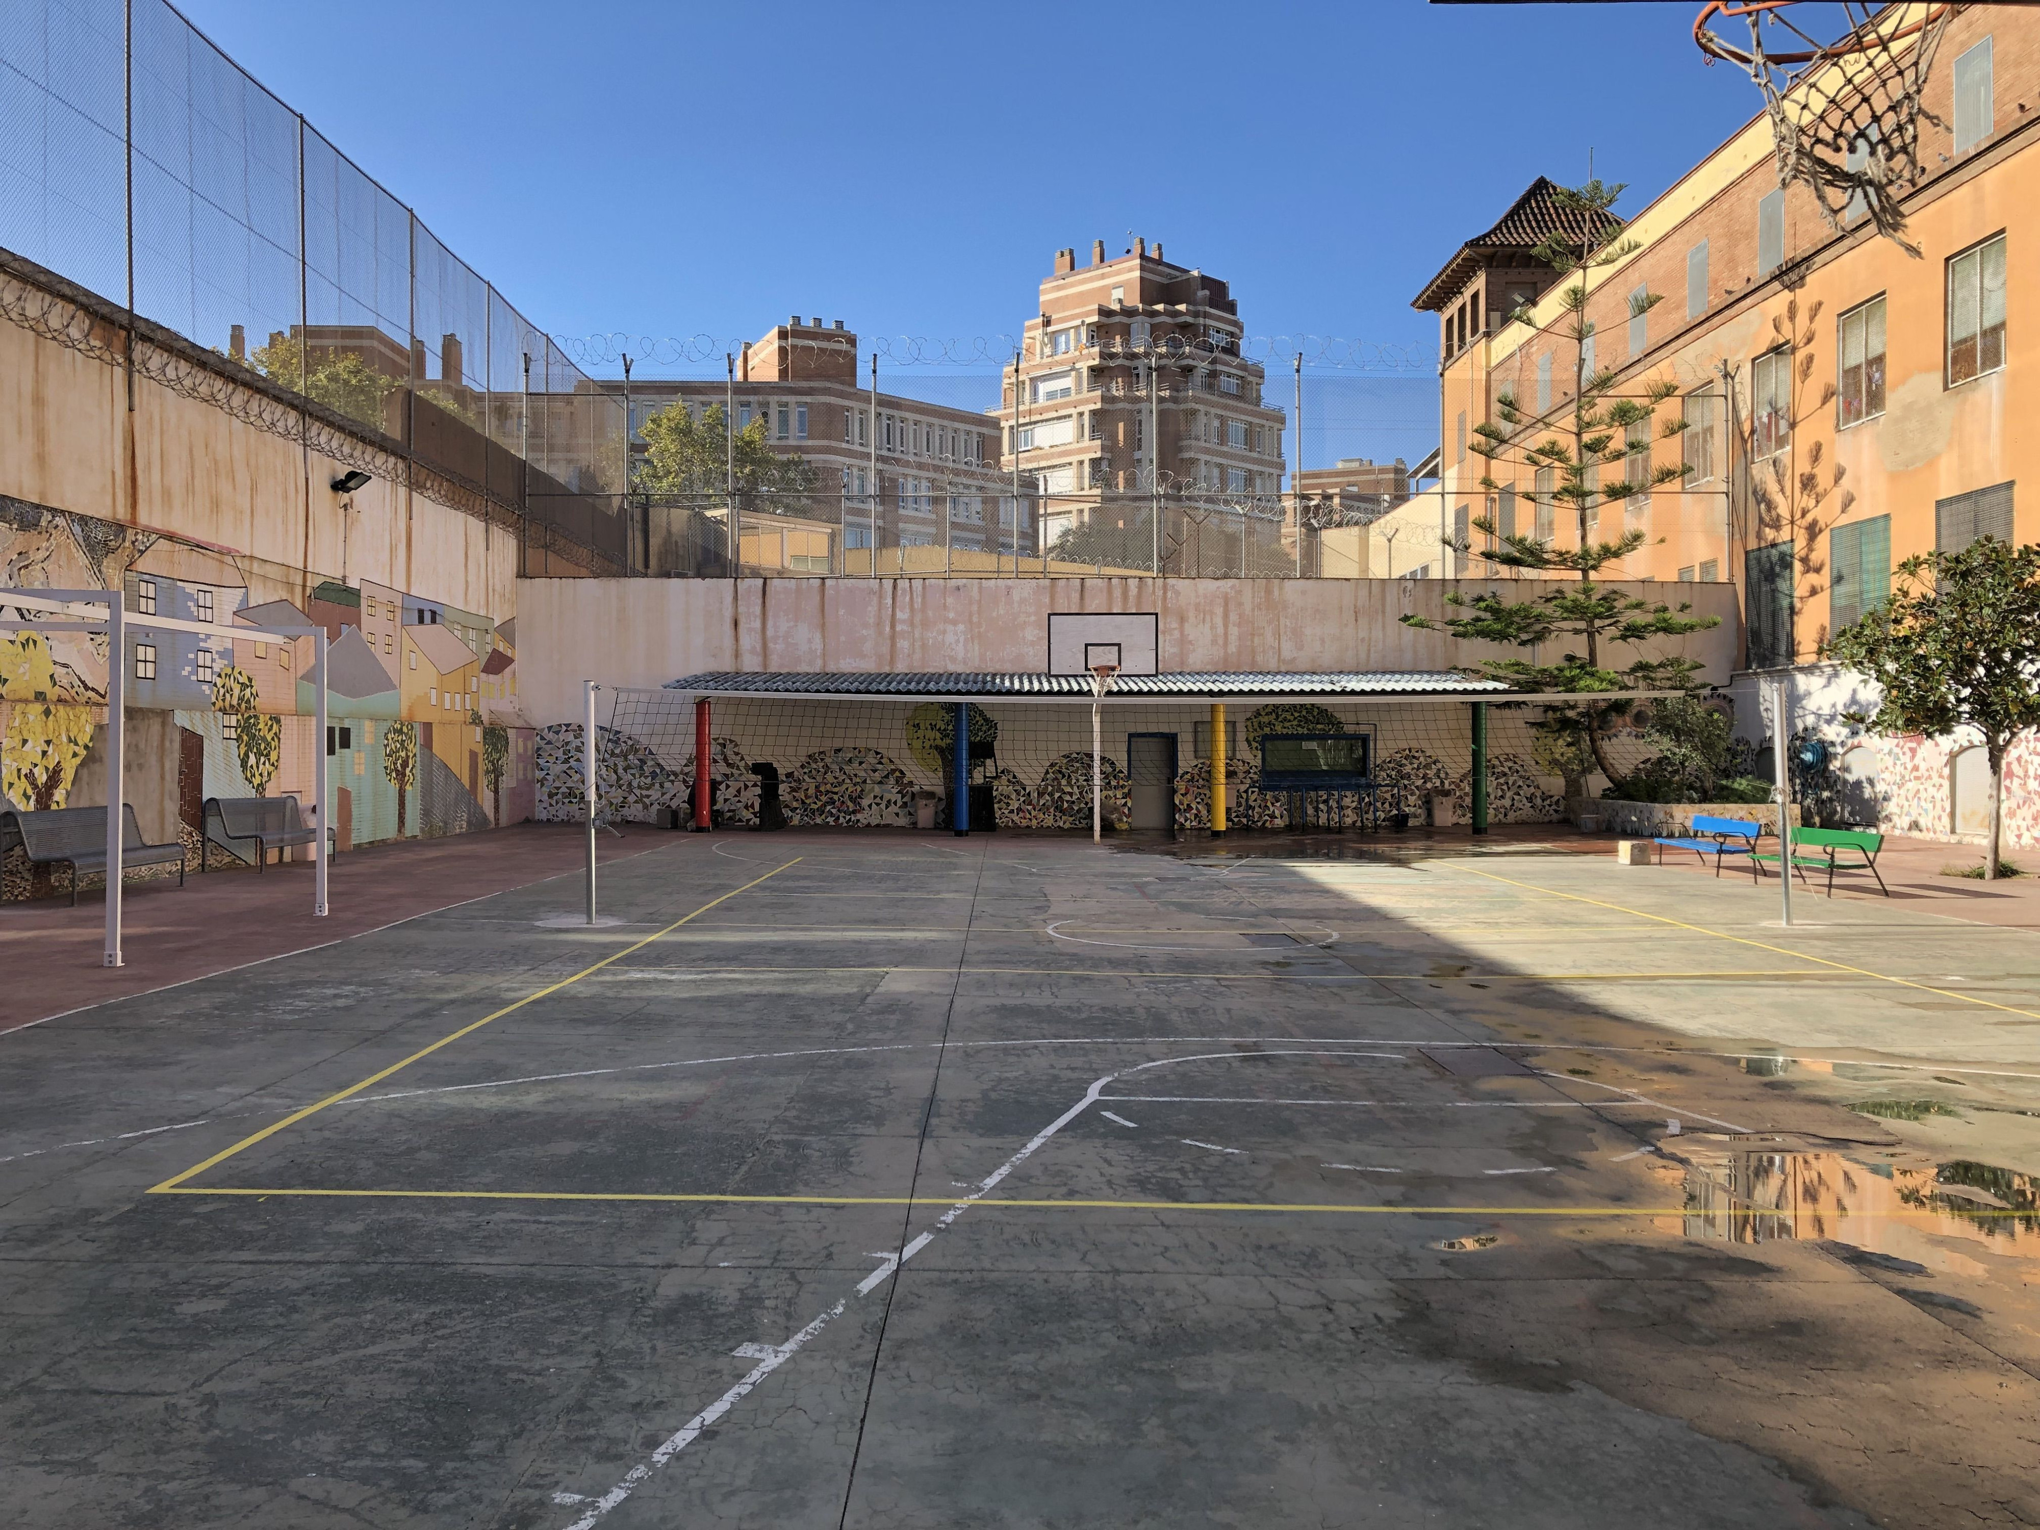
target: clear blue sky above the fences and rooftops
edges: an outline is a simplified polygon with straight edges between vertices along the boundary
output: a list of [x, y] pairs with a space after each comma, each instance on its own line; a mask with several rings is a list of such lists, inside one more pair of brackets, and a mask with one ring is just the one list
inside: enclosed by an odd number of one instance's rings
[[1000, 337], [1132, 231], [1248, 335], [1428, 347], [1410, 298], [1532, 177], [1593, 147], [1634, 212], [1758, 106], [1693, 0], [180, 8], [561, 337]]

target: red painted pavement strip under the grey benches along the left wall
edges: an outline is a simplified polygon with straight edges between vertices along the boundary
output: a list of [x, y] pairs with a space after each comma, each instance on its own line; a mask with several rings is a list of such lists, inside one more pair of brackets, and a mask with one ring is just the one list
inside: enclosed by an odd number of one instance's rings
[[[596, 865], [645, 855], [679, 838], [624, 826], [598, 838]], [[135, 881], [122, 900], [124, 967], [102, 967], [106, 900], [0, 904], [0, 1034], [106, 1000], [147, 993], [253, 961], [345, 940], [398, 920], [490, 894], [528, 887], [588, 865], [577, 824], [514, 824], [449, 838], [371, 845], [333, 861], [326, 918], [312, 918], [312, 863], [200, 875], [186, 885]], [[63, 873], [57, 873], [63, 879]], [[581, 908], [581, 883], [563, 881], [563, 914]]]

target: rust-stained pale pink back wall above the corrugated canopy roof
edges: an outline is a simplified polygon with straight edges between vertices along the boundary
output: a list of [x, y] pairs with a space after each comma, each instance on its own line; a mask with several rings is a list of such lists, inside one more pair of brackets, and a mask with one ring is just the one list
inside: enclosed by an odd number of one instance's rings
[[[520, 579], [526, 716], [581, 716], [581, 681], [663, 685], [710, 669], [1042, 671], [1049, 612], [1155, 612], [1161, 669], [1450, 669], [1516, 649], [1404, 626], [1440, 620], [1446, 594], [1528, 579]], [[1722, 683], [1736, 657], [1726, 583], [1638, 594], [1720, 626], [1663, 645]]]

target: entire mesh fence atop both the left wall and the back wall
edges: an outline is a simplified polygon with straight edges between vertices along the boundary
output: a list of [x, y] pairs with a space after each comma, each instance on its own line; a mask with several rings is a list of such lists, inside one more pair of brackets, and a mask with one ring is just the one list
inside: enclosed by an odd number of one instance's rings
[[[608, 369], [628, 349], [539, 330], [165, 0], [0, 12], [0, 318], [514, 526], [532, 577], [1369, 575], [1359, 532], [1408, 498], [1406, 475], [1393, 494], [1379, 471], [1299, 494], [1293, 459], [1416, 461], [1436, 441], [1436, 375], [1408, 347], [1102, 337], [1071, 418], [1022, 428], [1004, 341], [853, 335], [828, 388], [798, 381], [820, 375], [804, 357], [773, 388], [730, 384], [753, 398], [732, 394], [724, 426], [769, 414], [765, 445], [798, 471], [767, 481], [798, 492], [726, 479], [720, 441], [687, 492], [643, 492], [634, 426], [687, 384], [632, 402], [628, 377], [583, 371], [575, 355]], [[679, 375], [722, 343], [649, 345]], [[1277, 369], [1291, 345], [1293, 379]], [[863, 390], [873, 357], [883, 394], [875, 373]], [[1214, 359], [1253, 361], [1230, 396]], [[1030, 410], [1069, 396], [1051, 381], [1028, 384]], [[808, 435], [824, 420], [843, 424], [826, 451]]]

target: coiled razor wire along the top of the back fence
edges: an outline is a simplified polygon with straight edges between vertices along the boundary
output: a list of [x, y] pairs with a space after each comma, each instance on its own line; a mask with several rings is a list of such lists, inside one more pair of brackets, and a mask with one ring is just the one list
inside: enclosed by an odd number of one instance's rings
[[[1167, 322], [1167, 320], [1159, 320]], [[606, 330], [598, 335], [551, 335], [553, 345], [579, 367], [622, 367], [630, 357], [636, 367], [706, 367], [724, 357], [743, 355], [751, 339], [724, 339], [716, 335], [632, 335], [628, 330]], [[816, 351], [836, 349], [830, 341], [810, 341], [792, 337], [796, 347]], [[969, 367], [979, 371], [1002, 371], [1012, 365], [1014, 351], [1020, 349], [1016, 335], [977, 335], [940, 339], [932, 335], [859, 335], [859, 365], [877, 357], [881, 367]], [[1234, 345], [1206, 339], [1167, 337], [1144, 343], [1114, 343], [1114, 359], [1216, 359], [1236, 357], [1257, 365], [1291, 363], [1297, 355], [1306, 367], [1375, 371], [1375, 373], [1430, 373], [1438, 371], [1438, 347], [1397, 341], [1353, 341], [1332, 335], [1246, 335]]]

